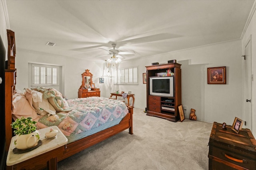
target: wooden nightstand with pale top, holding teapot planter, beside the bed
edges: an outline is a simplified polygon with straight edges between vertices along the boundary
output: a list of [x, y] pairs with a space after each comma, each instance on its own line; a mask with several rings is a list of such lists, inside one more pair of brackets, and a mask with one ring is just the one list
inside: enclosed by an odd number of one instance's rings
[[[50, 131], [51, 128], [58, 130], [57, 137], [54, 139], [46, 139], [45, 133]], [[46, 127], [38, 131], [40, 132], [42, 145], [24, 153], [14, 153], [12, 151], [15, 148], [14, 140], [16, 139], [16, 136], [12, 137], [6, 160], [8, 170], [38, 169], [42, 164], [47, 164], [48, 170], [57, 169], [57, 158], [56, 155], [54, 155], [54, 152], [51, 151], [68, 143], [68, 139], [57, 126]], [[33, 158], [33, 160], [30, 160], [31, 158]]]

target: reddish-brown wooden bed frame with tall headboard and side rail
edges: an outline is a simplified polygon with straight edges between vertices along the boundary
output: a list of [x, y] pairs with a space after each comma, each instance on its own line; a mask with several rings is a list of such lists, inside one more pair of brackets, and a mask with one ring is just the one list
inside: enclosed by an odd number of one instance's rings
[[[15, 46], [15, 36], [14, 32], [11, 30], [7, 30], [8, 37], [8, 61], [6, 61], [6, 70], [5, 70], [5, 138], [6, 138], [6, 152], [8, 152], [10, 141], [13, 137], [12, 133], [12, 95], [13, 90], [15, 90], [16, 85], [16, 68], [15, 68], [15, 54], [16, 54], [16, 46]], [[47, 166], [46, 162], [49, 162], [51, 155], [56, 155], [57, 161], [63, 160], [72, 156], [92, 145], [95, 145], [105, 139], [120, 133], [126, 129], [129, 129], [129, 133], [132, 132], [132, 114], [133, 114], [133, 106], [128, 106], [129, 113], [124, 117], [124, 119], [118, 124], [78, 141], [74, 141], [72, 143], [68, 143], [63, 147], [52, 150], [50, 153], [46, 153], [44, 159], [39, 159], [37, 157], [31, 158], [28, 163], [23, 163], [22, 166], [16, 166], [17, 169], [28, 168], [32, 169], [42, 169]], [[33, 166], [33, 167], [31, 167]], [[7, 166], [7, 169], [11, 169], [12, 167]]]

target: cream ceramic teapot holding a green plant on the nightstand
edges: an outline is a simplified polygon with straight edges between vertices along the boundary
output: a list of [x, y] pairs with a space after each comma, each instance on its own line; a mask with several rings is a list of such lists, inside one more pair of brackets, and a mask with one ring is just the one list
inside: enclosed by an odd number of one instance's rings
[[30, 134], [26, 135], [17, 135], [16, 139], [14, 141], [14, 145], [17, 149], [29, 149], [38, 144], [38, 137], [36, 135], [39, 135], [38, 131], [34, 131]]

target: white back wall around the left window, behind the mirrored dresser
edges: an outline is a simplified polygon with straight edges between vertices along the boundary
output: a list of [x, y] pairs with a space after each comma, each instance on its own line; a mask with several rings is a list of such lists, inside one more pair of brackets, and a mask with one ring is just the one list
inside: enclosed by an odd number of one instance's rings
[[[18, 32], [15, 32], [17, 35]], [[62, 66], [62, 94], [69, 99], [78, 98], [78, 89], [82, 84], [81, 74], [89, 69], [93, 74], [93, 82], [96, 87], [100, 87], [99, 77], [102, 76], [102, 64], [86, 61], [83, 59], [70, 59], [54, 55], [46, 55], [42, 53], [33, 53], [22, 51], [16, 48], [16, 68], [17, 68], [17, 84], [16, 89], [23, 90], [31, 88], [28, 84], [28, 63], [55, 64]]]

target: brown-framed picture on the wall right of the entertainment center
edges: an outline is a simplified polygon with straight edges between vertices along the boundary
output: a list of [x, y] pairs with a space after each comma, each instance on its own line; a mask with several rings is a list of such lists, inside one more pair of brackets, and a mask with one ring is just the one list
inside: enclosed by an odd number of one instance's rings
[[207, 68], [208, 84], [226, 84], [226, 66]]

